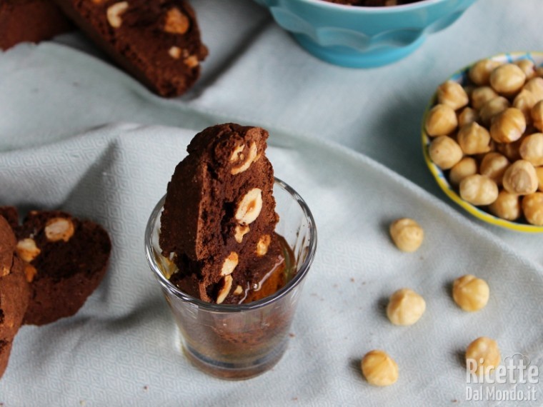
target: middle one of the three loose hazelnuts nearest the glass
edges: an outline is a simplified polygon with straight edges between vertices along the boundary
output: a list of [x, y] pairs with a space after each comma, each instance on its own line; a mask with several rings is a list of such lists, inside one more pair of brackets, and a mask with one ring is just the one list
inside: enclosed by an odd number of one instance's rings
[[392, 294], [387, 306], [387, 316], [394, 325], [413, 325], [426, 311], [424, 298], [409, 288], [402, 288]]

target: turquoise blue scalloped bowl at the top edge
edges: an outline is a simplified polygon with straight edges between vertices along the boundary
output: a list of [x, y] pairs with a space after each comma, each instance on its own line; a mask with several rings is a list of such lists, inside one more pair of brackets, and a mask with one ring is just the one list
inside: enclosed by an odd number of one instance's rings
[[447, 28], [475, 0], [422, 0], [404, 6], [343, 6], [323, 0], [255, 0], [309, 53], [352, 68], [382, 66]]

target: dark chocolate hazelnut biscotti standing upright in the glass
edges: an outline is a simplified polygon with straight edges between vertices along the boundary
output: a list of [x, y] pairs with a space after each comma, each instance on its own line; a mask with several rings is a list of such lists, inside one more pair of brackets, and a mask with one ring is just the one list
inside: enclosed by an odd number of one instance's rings
[[221, 124], [196, 134], [168, 184], [159, 243], [170, 280], [203, 301], [240, 303], [281, 258], [267, 131]]

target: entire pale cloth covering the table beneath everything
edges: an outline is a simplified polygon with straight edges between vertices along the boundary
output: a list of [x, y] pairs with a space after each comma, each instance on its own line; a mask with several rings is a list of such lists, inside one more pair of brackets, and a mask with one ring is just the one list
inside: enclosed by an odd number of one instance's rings
[[[412, 56], [369, 70], [314, 59], [251, 1], [194, 6], [210, 56], [201, 81], [175, 100], [150, 94], [78, 34], [0, 54], [0, 204], [94, 219], [114, 245], [104, 282], [76, 316], [21, 328], [0, 403], [540, 406], [542, 384], [537, 401], [466, 401], [462, 353], [490, 336], [504, 358], [522, 353], [543, 371], [543, 236], [457, 209], [434, 185], [419, 141], [422, 111], [444, 77], [484, 56], [537, 50], [539, 0], [479, 0]], [[243, 382], [186, 361], [143, 249], [147, 218], [189, 140], [225, 121], [270, 131], [276, 175], [306, 199], [319, 231], [289, 350]], [[416, 253], [389, 239], [399, 216], [424, 227]], [[450, 296], [464, 273], [491, 288], [477, 313]], [[426, 298], [427, 312], [414, 326], [392, 326], [384, 303], [404, 286]], [[362, 378], [360, 359], [373, 348], [399, 364], [394, 386]]]

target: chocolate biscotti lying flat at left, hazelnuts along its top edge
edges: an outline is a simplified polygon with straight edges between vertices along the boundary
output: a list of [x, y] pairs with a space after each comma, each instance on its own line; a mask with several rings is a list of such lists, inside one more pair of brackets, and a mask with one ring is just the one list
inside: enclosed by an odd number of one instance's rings
[[99, 286], [111, 253], [99, 224], [61, 211], [31, 211], [16, 228], [16, 252], [29, 263], [31, 296], [24, 323], [72, 316]]

